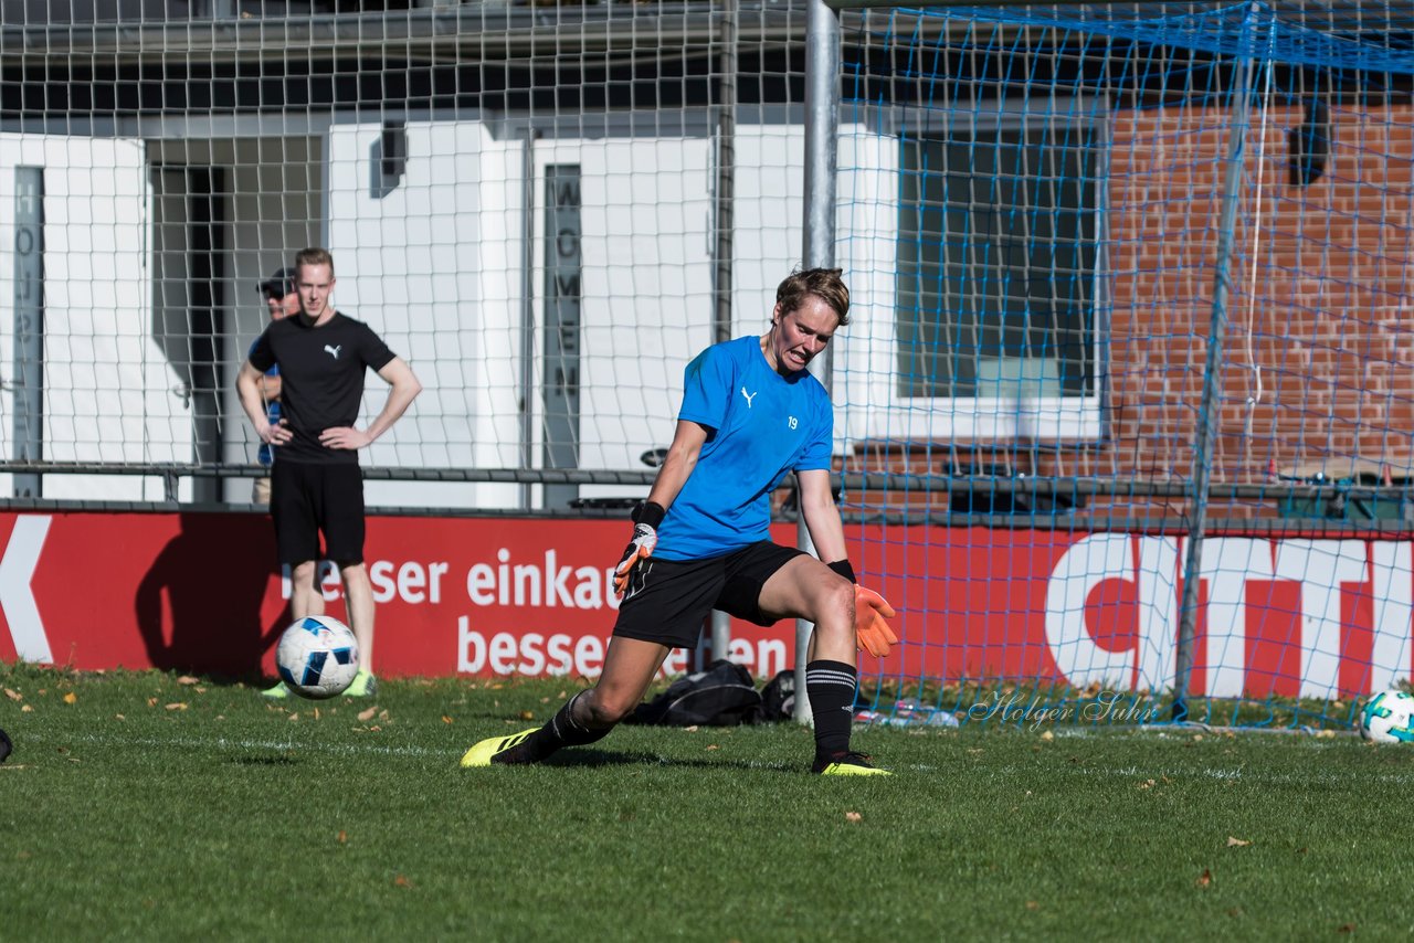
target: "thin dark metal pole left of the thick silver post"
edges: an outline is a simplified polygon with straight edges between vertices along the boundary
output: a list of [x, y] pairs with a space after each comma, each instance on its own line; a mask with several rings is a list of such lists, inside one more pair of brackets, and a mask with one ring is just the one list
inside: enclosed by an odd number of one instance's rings
[[[724, 0], [721, 16], [721, 51], [717, 78], [717, 243], [713, 269], [715, 341], [731, 339], [731, 288], [735, 246], [732, 215], [737, 192], [737, 0]], [[711, 655], [727, 657], [731, 648], [731, 618], [721, 611], [711, 614]]]

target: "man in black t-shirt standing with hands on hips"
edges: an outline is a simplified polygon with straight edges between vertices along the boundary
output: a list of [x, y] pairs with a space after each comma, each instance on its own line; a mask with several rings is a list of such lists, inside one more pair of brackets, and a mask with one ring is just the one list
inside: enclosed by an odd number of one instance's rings
[[[314, 577], [322, 557], [344, 580], [344, 605], [358, 638], [359, 673], [345, 694], [368, 697], [373, 680], [373, 588], [363, 566], [363, 475], [358, 450], [386, 433], [421, 392], [410, 366], [362, 321], [329, 304], [334, 257], [304, 249], [294, 260], [300, 314], [273, 321], [240, 366], [240, 406], [262, 443], [277, 445], [270, 474], [270, 516], [280, 563], [291, 570], [290, 607], [296, 619], [324, 612]], [[260, 377], [280, 365], [281, 414], [270, 424], [260, 399]], [[392, 387], [368, 428], [358, 428], [365, 372], [372, 368]], [[287, 697], [284, 684], [264, 691]]]

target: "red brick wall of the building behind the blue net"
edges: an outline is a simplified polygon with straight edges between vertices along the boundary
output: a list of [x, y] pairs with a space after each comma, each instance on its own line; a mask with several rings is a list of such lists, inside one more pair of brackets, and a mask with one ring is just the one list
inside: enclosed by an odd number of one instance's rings
[[[875, 450], [860, 464], [1189, 478], [1213, 310], [1225, 120], [1181, 107], [1116, 116], [1107, 444], [1022, 454], [1010, 443], [947, 443]], [[1261, 482], [1270, 468], [1339, 476], [1355, 462], [1414, 478], [1414, 107], [1332, 107], [1331, 157], [1307, 187], [1292, 185], [1287, 168], [1288, 133], [1301, 120], [1301, 109], [1253, 113], [1213, 481]], [[1135, 499], [1113, 503], [1133, 509]], [[1184, 510], [1181, 502], [1138, 503], [1143, 513]], [[1271, 510], [1264, 502], [1225, 513]]]

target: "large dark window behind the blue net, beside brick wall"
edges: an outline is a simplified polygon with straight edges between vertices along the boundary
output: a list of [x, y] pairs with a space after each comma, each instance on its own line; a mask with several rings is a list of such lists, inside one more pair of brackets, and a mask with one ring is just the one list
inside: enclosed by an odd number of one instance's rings
[[1027, 403], [1049, 437], [1094, 435], [1104, 124], [1049, 105], [929, 113], [899, 131], [894, 393], [952, 400], [952, 414], [1015, 417]]

